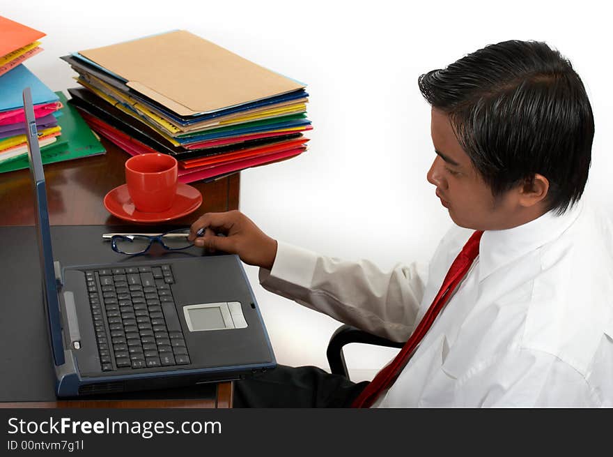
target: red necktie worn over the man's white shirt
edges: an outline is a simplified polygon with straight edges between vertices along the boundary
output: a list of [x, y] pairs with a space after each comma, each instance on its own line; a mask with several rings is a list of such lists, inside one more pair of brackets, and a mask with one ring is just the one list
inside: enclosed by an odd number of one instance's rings
[[481, 239], [483, 232], [476, 231], [472, 234], [470, 239], [466, 242], [456, 260], [453, 260], [447, 276], [443, 280], [443, 285], [434, 297], [430, 308], [426, 311], [424, 317], [421, 318], [417, 329], [413, 331], [409, 340], [405, 343], [403, 348], [396, 358], [391, 361], [390, 364], [385, 366], [375, 376], [370, 384], [366, 386], [366, 389], [353, 401], [351, 407], [371, 407], [382, 391], [387, 389], [396, 380], [396, 377], [403, 370], [414, 350], [419, 345], [419, 342], [426, 335], [426, 332], [432, 326], [440, 310], [451, 297], [451, 293], [456, 289], [458, 284], [462, 281], [468, 269], [472, 265], [475, 257], [479, 254], [479, 240]]

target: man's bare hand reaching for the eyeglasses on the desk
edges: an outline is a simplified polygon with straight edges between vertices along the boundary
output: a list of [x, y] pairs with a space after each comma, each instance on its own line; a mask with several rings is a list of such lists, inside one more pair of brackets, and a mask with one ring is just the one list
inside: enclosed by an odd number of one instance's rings
[[[196, 232], [203, 227], [206, 229], [203, 236], [197, 237]], [[277, 256], [277, 240], [267, 236], [240, 211], [205, 213], [189, 228], [187, 239], [211, 252], [238, 254], [246, 264], [269, 270]]]

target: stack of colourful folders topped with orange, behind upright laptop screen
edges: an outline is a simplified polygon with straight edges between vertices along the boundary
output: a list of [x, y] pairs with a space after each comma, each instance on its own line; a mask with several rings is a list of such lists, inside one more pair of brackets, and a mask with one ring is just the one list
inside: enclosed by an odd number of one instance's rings
[[30, 87], [41, 151], [61, 132], [58, 96], [22, 62], [42, 51], [38, 30], [0, 16], [0, 164], [27, 153], [22, 91]]

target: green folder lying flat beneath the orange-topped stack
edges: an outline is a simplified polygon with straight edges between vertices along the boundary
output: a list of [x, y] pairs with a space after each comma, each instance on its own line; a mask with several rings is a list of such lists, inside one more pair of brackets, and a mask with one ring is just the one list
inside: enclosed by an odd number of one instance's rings
[[[42, 164], [47, 165], [47, 163], [105, 153], [106, 149], [100, 144], [79, 112], [72, 105], [66, 103], [68, 100], [66, 100], [64, 94], [59, 91], [56, 92], [56, 95], [59, 96], [64, 106], [61, 109], [62, 115], [58, 118], [58, 124], [62, 128], [61, 135], [56, 142], [40, 148]], [[22, 154], [0, 163], [0, 173], [13, 172], [28, 167], [28, 154]]]

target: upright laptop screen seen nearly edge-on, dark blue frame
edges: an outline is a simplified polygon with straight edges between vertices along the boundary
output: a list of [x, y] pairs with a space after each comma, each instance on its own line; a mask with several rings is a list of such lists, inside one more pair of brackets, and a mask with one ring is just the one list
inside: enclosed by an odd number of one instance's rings
[[62, 345], [60, 306], [53, 267], [47, 189], [45, 188], [45, 174], [42, 172], [42, 158], [40, 157], [40, 148], [38, 147], [38, 130], [36, 129], [34, 107], [29, 87], [24, 89], [23, 97], [26, 115], [28, 159], [34, 188], [34, 203], [36, 204], [36, 239], [38, 241], [38, 255], [40, 257], [40, 273], [42, 274], [42, 292], [45, 298], [53, 358], [56, 365], [61, 365], [64, 363], [64, 350]]

